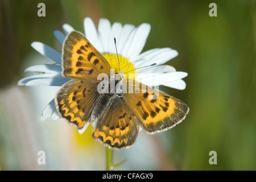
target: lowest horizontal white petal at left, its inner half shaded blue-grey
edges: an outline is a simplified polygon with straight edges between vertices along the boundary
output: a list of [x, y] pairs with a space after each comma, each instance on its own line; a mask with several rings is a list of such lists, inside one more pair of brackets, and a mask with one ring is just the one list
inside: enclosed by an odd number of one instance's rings
[[69, 78], [65, 77], [54, 77], [54, 78], [39, 78], [31, 80], [26, 83], [26, 86], [62, 86]]

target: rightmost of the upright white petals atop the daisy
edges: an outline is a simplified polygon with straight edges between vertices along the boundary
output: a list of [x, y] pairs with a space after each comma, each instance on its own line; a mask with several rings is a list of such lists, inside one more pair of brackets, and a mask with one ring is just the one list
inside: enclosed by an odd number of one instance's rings
[[149, 36], [150, 24], [142, 23], [135, 32], [133, 40], [129, 46], [129, 50], [126, 53], [126, 56], [129, 60], [133, 60], [134, 57], [137, 57], [141, 53], [143, 47], [146, 44], [147, 36]]

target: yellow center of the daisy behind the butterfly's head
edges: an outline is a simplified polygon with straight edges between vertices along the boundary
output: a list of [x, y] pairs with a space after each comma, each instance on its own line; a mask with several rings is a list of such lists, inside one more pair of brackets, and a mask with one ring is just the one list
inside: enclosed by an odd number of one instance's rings
[[[104, 53], [103, 56], [106, 58], [106, 60], [109, 62], [112, 69], [115, 69], [115, 73], [119, 73], [119, 66], [118, 66], [118, 59], [117, 55], [113, 53]], [[118, 55], [119, 62], [120, 62], [120, 71], [129, 72], [134, 68], [133, 64], [130, 63], [128, 59], [125, 57]], [[133, 74], [133, 79], [135, 80], [135, 71], [131, 71], [129, 73], [126, 73], [127, 80], [129, 79], [129, 75]]]

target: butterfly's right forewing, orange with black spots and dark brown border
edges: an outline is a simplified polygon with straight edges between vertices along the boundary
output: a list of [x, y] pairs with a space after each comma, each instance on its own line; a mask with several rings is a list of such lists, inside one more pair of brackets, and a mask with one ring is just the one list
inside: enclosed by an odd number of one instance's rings
[[149, 134], [174, 127], [185, 119], [189, 112], [185, 103], [150, 86], [135, 81], [123, 84], [134, 90], [133, 93], [123, 94], [123, 98]]

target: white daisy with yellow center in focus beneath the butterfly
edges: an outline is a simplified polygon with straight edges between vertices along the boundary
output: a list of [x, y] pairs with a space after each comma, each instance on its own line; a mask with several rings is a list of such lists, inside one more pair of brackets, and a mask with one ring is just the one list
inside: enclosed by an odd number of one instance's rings
[[[187, 76], [186, 72], [176, 72], [174, 67], [163, 65], [178, 55], [178, 52], [171, 48], [154, 48], [141, 53], [145, 46], [147, 36], [150, 32], [150, 24], [142, 23], [135, 27], [133, 24], [115, 22], [112, 26], [108, 19], [99, 20], [98, 30], [95, 28], [91, 18], [84, 21], [85, 36], [93, 46], [101, 52], [109, 61], [111, 68], [118, 70], [117, 55], [114, 46], [114, 37], [117, 40], [117, 49], [120, 60], [121, 71], [130, 71], [145, 65], [157, 63], [155, 67], [138, 69], [135, 71], [135, 80], [150, 86], [165, 85], [175, 89], [185, 89], [186, 83], [182, 78]], [[54, 36], [61, 46], [74, 28], [69, 24], [63, 25], [64, 34], [61, 31], [54, 31]], [[62, 76], [61, 53], [41, 42], [33, 42], [31, 46], [43, 56], [53, 60], [55, 64], [38, 64], [25, 69], [25, 72], [41, 73], [25, 77], [18, 81], [18, 85], [26, 86], [62, 86], [70, 78]], [[157, 81], [155, 81], [157, 77]], [[154, 82], [152, 82], [154, 80]], [[55, 106], [54, 98], [45, 107], [41, 115], [44, 121], [50, 117], [53, 121], [61, 118]], [[89, 123], [89, 122], [88, 122]], [[83, 127], [83, 131], [86, 127]]]

